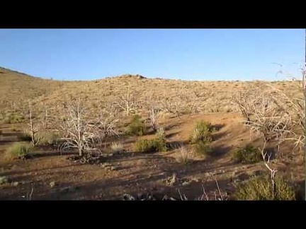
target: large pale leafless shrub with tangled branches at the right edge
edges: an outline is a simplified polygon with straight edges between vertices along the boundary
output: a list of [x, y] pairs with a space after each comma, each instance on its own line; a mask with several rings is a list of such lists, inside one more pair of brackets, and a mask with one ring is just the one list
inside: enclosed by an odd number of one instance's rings
[[261, 134], [263, 144], [259, 150], [264, 165], [271, 173], [272, 197], [275, 199], [277, 170], [270, 166], [272, 153], [266, 146], [271, 142], [279, 146], [288, 139], [295, 140], [295, 145], [304, 146], [305, 134], [301, 130], [305, 129], [305, 106], [300, 98], [290, 97], [272, 86], [270, 90], [261, 93], [257, 101], [254, 117], [246, 121], [246, 124], [252, 131]]

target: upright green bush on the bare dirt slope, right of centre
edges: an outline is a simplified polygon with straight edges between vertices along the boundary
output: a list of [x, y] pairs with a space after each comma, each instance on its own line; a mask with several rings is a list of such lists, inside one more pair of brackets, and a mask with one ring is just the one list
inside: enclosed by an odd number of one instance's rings
[[204, 143], [212, 142], [212, 125], [209, 122], [200, 121], [196, 123], [196, 127], [191, 134], [189, 141], [191, 143], [198, 143], [200, 141]]

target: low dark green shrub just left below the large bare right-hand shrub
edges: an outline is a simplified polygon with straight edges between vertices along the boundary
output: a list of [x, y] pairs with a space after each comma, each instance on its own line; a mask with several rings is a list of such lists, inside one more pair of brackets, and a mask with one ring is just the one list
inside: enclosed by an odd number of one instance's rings
[[257, 163], [263, 160], [259, 149], [251, 146], [251, 144], [234, 151], [232, 157], [236, 162], [240, 163]]

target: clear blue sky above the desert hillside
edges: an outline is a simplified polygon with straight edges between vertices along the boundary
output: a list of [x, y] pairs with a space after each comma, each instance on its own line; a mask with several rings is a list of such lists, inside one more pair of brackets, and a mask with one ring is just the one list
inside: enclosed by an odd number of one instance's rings
[[58, 80], [273, 81], [301, 76], [304, 39], [301, 29], [0, 29], [0, 66]]

